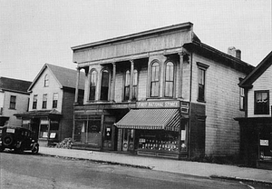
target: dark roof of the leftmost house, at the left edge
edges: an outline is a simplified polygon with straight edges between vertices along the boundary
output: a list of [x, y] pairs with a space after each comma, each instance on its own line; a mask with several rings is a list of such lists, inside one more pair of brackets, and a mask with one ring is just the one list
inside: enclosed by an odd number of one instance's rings
[[19, 79], [0, 77], [0, 89], [5, 91], [27, 93], [27, 89], [31, 83], [32, 82]]

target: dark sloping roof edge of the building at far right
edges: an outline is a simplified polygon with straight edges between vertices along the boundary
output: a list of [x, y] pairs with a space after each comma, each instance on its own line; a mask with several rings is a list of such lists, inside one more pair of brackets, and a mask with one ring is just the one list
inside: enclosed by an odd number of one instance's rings
[[272, 51], [256, 66], [256, 68], [243, 79], [239, 86], [241, 87], [252, 87], [252, 84], [257, 78], [262, 75], [268, 67], [272, 65]]

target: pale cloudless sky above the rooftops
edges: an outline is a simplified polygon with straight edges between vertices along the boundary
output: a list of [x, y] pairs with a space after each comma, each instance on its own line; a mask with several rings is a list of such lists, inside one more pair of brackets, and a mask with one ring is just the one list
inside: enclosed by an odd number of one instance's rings
[[191, 22], [202, 43], [257, 65], [272, 50], [271, 0], [0, 0], [0, 76], [74, 69], [71, 47]]

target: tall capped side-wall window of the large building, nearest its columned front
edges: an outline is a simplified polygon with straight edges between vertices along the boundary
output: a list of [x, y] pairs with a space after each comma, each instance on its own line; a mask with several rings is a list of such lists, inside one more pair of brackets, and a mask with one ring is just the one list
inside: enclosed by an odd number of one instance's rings
[[198, 92], [198, 101], [205, 102], [205, 93], [206, 93], [206, 70], [209, 65], [204, 65], [197, 63], [199, 66], [199, 92]]

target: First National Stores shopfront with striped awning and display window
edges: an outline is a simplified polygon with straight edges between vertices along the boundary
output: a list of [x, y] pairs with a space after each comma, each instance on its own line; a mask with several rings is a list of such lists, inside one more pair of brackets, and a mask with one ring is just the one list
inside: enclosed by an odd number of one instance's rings
[[[180, 105], [181, 104], [181, 105]], [[188, 156], [189, 103], [137, 102], [115, 125], [118, 151], [180, 159]]]

